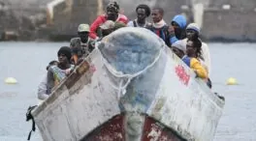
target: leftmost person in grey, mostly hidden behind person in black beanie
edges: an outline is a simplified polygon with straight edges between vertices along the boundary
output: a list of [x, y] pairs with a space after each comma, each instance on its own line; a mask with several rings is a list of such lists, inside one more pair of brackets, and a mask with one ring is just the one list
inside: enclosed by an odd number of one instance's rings
[[[47, 71], [51, 66], [56, 66], [58, 64], [57, 61], [53, 60], [48, 63]], [[48, 76], [44, 76], [44, 79], [40, 82], [38, 86], [38, 99], [44, 100], [48, 99]]]

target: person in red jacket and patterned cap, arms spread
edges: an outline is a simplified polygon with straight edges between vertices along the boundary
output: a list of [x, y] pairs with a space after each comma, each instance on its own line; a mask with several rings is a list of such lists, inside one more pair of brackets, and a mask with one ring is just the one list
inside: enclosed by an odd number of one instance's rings
[[128, 18], [124, 14], [119, 14], [119, 5], [116, 2], [110, 2], [107, 6], [107, 13], [99, 15], [91, 24], [89, 37], [93, 40], [98, 40], [99, 36], [96, 34], [99, 27], [107, 20], [113, 22], [118, 21], [127, 24]]

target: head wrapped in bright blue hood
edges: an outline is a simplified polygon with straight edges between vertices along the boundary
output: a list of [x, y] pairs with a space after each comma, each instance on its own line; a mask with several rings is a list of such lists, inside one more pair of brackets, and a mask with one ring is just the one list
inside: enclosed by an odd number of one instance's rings
[[177, 14], [173, 18], [171, 24], [175, 29], [176, 38], [182, 39], [182, 36], [183, 36], [182, 34], [186, 28], [186, 17], [182, 14]]

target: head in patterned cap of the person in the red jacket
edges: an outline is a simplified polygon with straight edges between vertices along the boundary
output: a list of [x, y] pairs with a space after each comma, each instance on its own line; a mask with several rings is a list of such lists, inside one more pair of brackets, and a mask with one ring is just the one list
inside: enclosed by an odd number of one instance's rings
[[117, 2], [110, 2], [107, 6], [107, 16], [109, 20], [115, 21], [118, 17], [119, 5]]

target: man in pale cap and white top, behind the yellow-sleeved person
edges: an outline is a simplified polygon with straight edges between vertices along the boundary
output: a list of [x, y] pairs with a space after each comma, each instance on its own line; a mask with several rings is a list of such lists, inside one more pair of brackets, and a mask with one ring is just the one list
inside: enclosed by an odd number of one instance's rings
[[[200, 28], [196, 23], [190, 23], [186, 27], [186, 37], [188, 40], [199, 39], [200, 35]], [[185, 42], [187, 41], [185, 40]], [[202, 41], [201, 41], [202, 42]], [[208, 44], [202, 42], [202, 56], [203, 58], [199, 58], [201, 63], [206, 67], [208, 70], [208, 75], [210, 74], [210, 55], [208, 50]]]

